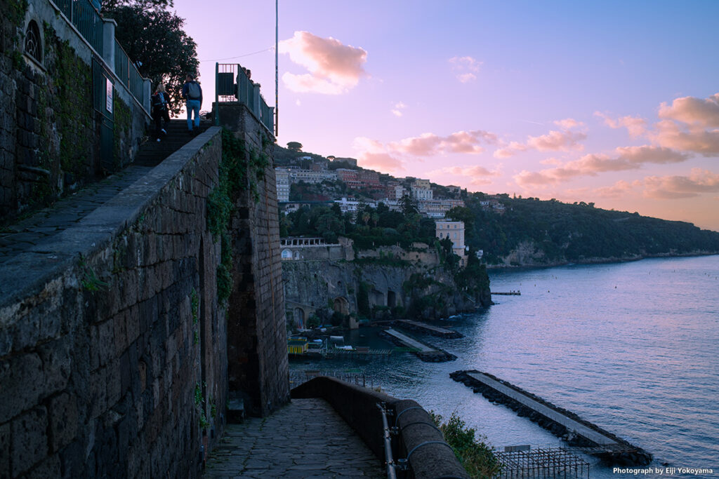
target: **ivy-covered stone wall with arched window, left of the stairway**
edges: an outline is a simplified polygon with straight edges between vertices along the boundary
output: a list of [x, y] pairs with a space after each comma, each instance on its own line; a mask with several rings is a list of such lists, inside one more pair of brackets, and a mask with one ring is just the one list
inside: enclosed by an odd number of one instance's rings
[[[26, 45], [31, 30], [37, 57]], [[101, 53], [50, 1], [0, 2], [0, 225], [132, 161], [149, 115], [109, 65], [113, 159], [101, 162], [102, 116], [93, 107], [93, 87], [105, 86], [93, 78]]]

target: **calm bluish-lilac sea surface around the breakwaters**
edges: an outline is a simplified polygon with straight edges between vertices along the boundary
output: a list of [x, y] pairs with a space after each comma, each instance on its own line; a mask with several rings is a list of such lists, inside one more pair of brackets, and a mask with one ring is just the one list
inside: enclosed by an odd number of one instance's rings
[[[719, 256], [490, 271], [490, 280], [493, 291], [521, 296], [495, 296], [485, 312], [446, 320], [464, 338], [418, 335], [457, 361], [423, 363], [403, 353], [290, 369], [360, 368], [390, 395], [444, 417], [457, 411], [496, 447], [559, 445], [449, 378], [476, 368], [643, 447], [654, 454], [652, 467], [711, 468], [709, 477], [719, 477]], [[381, 347], [370, 330], [348, 339]], [[635, 477], [585, 460], [591, 478]]]

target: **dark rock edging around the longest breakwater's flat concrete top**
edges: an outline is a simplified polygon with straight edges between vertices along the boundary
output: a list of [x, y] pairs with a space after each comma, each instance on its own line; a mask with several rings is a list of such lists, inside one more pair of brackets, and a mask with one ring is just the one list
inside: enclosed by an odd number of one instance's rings
[[[479, 381], [476, 378], [473, 378], [472, 376], [470, 376], [470, 373], [480, 373], [489, 378], [492, 378], [493, 380], [502, 383], [503, 386], [507, 386], [508, 388], [513, 389], [514, 391], [517, 391], [524, 396], [527, 396], [529, 399], [533, 399], [533, 401], [537, 401], [541, 405], [546, 406], [553, 411], [556, 411], [562, 416], [572, 419], [574, 422], [578, 422], [582, 426], [587, 427], [594, 432], [602, 434], [608, 439], [613, 440], [613, 442], [615, 442], [616, 444], [612, 445], [611, 447], [608, 447], [607, 445], [597, 444], [597, 442], [594, 442], [587, 439], [587, 437], [583, 437], [582, 435], [577, 434], [577, 432], [570, 430], [563, 424], [559, 424], [557, 420], [547, 417], [545, 414], [541, 414], [539, 411], [533, 410], [525, 404], [521, 404], [521, 402], [517, 401], [516, 399], [513, 399], [507, 394], [503, 394], [503, 392], [498, 391], [497, 389], [494, 389], [493, 387], [488, 386], [485, 383], [482, 383], [482, 381]], [[616, 465], [647, 465], [649, 464], [649, 462], [651, 462], [652, 455], [649, 452], [646, 452], [645, 450], [641, 449], [641, 447], [636, 447], [635, 445], [632, 445], [628, 441], [623, 440], [615, 434], [612, 434], [611, 432], [602, 429], [596, 424], [592, 424], [591, 422], [582, 419], [581, 417], [577, 416], [577, 414], [574, 414], [572, 411], [567, 411], [567, 409], [555, 406], [554, 404], [551, 404], [551, 402], [546, 401], [539, 396], [536, 396], [536, 394], [524, 391], [523, 389], [514, 386], [507, 381], [503, 381], [502, 379], [497, 378], [492, 374], [482, 373], [480, 371], [454, 371], [454, 373], [451, 373], [449, 377], [454, 379], [454, 381], [464, 383], [465, 386], [471, 387], [472, 391], [474, 391], [475, 393], [481, 393], [482, 396], [485, 396], [485, 398], [489, 401], [508, 406], [513, 411], [516, 411], [518, 416], [527, 417], [532, 422], [536, 422], [541, 427], [547, 429], [555, 436], [568, 442], [569, 445], [585, 450], [592, 455], [600, 457], [606, 462]]]

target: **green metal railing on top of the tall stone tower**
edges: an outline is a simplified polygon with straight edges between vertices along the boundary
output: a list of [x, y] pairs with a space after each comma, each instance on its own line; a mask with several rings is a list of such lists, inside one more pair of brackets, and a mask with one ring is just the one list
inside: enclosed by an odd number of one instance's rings
[[[255, 94], [255, 83], [247, 78], [247, 73], [239, 63], [215, 64], [215, 102], [241, 103], [247, 106], [260, 123], [274, 134], [275, 108], [267, 106], [261, 94]], [[215, 117], [215, 121], [219, 122], [219, 116]]]

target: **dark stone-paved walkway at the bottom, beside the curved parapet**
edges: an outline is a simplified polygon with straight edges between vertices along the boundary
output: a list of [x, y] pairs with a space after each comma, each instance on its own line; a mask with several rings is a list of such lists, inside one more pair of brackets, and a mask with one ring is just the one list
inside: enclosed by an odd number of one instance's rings
[[380, 460], [324, 399], [293, 399], [265, 418], [229, 424], [207, 479], [386, 478]]

